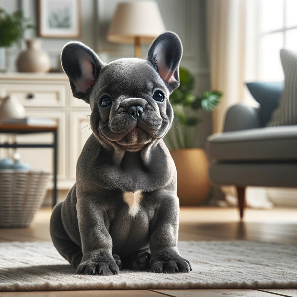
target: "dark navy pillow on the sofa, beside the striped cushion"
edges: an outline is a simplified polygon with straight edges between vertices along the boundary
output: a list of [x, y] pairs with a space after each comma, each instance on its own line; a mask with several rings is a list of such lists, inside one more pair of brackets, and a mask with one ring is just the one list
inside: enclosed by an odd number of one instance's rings
[[273, 110], [278, 107], [284, 82], [252, 82], [246, 85], [250, 94], [261, 106], [260, 120], [264, 127], [269, 122]]

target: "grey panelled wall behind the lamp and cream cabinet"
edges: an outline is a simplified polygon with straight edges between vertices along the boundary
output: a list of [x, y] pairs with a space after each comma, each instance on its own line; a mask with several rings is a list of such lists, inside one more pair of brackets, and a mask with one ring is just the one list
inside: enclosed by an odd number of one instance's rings
[[[80, 41], [94, 49], [104, 62], [133, 57], [133, 45], [118, 45], [106, 41], [110, 19], [119, 0], [81, 0], [82, 35]], [[205, 0], [157, 0], [167, 30], [176, 32], [184, 46], [181, 65], [196, 76], [195, 93], [200, 95], [209, 89], [209, 69], [206, 53]], [[26, 17], [38, 24], [38, 0], [0, 0], [1, 8], [8, 12], [22, 9]], [[27, 30], [25, 38], [38, 33]], [[43, 38], [46, 50], [54, 68], [58, 67], [62, 47], [68, 39]], [[15, 60], [24, 42], [19, 42], [7, 51], [9, 68], [15, 70]], [[146, 58], [148, 45], [142, 46], [142, 57]], [[200, 112], [202, 123], [198, 128], [198, 147], [204, 147], [206, 137], [211, 134], [211, 114]]]

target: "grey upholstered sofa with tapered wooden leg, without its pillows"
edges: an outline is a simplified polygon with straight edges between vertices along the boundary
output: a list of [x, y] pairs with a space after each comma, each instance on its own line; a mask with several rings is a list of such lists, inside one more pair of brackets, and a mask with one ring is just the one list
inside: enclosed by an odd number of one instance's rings
[[211, 182], [236, 186], [241, 218], [247, 186], [297, 187], [297, 126], [261, 127], [257, 108], [232, 106], [206, 150]]

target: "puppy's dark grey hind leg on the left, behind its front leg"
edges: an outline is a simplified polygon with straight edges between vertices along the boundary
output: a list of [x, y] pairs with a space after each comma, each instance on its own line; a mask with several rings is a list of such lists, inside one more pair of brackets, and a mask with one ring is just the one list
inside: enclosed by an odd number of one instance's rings
[[61, 208], [63, 202], [56, 205], [50, 218], [50, 236], [57, 251], [74, 267], [82, 260], [82, 249], [74, 243], [66, 233], [62, 220]]

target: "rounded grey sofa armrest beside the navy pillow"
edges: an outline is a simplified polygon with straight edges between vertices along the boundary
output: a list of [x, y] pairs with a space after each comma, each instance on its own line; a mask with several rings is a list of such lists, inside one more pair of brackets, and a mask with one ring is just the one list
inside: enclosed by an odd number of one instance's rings
[[238, 103], [231, 106], [225, 117], [224, 132], [260, 128], [261, 122], [256, 107]]

